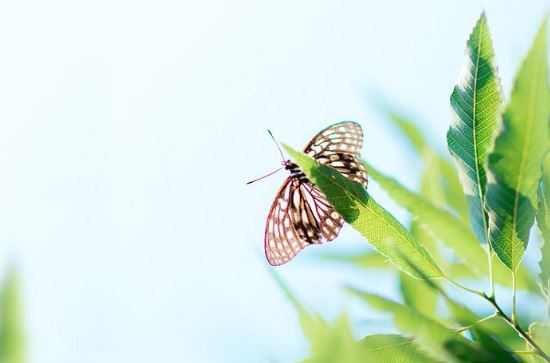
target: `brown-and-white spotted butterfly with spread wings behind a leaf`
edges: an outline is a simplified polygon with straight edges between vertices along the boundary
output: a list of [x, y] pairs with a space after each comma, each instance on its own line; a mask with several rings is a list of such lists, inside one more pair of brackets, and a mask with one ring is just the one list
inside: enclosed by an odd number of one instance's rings
[[[358, 160], [362, 143], [361, 126], [344, 121], [315, 135], [304, 153], [366, 187], [367, 173]], [[265, 227], [265, 255], [273, 266], [290, 261], [311, 244], [332, 241], [344, 224], [323, 192], [296, 164], [285, 161], [285, 168], [291, 175], [279, 189]]]

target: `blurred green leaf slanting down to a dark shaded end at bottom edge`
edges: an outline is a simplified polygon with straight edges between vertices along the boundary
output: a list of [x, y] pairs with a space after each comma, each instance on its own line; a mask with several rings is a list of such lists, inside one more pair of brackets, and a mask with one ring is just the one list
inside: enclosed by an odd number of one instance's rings
[[408, 306], [381, 296], [351, 289], [372, 308], [390, 313], [397, 328], [412, 334], [433, 356], [448, 362], [494, 362], [494, 356], [459, 333]]

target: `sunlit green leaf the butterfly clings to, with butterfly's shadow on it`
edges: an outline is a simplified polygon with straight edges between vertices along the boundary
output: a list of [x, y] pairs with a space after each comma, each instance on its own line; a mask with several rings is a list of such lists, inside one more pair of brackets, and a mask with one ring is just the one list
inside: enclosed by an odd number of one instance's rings
[[[416, 242], [394, 216], [382, 208], [363, 189], [335, 169], [319, 164], [311, 157], [284, 145], [307, 177], [334, 206], [335, 210], [361, 233], [390, 262], [414, 275], [409, 261], [429, 277], [443, 277], [430, 254]], [[404, 259], [403, 256], [407, 256]]]

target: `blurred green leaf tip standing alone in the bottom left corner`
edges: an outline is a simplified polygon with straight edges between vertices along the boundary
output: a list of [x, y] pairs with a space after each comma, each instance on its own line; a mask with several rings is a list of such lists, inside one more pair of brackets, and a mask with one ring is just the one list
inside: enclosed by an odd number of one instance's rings
[[0, 297], [0, 363], [23, 363], [25, 349], [19, 286], [15, 271], [10, 271]]

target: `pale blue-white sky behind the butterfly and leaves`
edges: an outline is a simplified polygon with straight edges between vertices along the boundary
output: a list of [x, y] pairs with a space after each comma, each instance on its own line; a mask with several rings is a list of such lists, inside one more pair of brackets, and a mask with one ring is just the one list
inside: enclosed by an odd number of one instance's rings
[[[363, 157], [416, 186], [421, 163], [379, 105], [446, 152], [482, 10], [508, 94], [547, 1], [0, 4], [0, 266], [20, 276], [29, 361], [307, 356], [262, 251], [286, 175], [245, 185], [280, 165], [266, 130], [302, 148], [355, 120]], [[331, 320], [349, 305], [343, 284], [395, 294], [391, 276], [318, 259], [366, 249], [347, 227], [276, 271]]]

